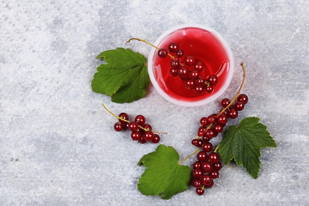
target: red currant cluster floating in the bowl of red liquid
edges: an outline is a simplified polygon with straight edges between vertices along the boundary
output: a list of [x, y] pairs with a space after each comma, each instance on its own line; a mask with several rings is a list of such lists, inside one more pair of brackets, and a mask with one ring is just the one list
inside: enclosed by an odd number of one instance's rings
[[179, 77], [181, 81], [185, 82], [185, 87], [187, 89], [194, 89], [196, 95], [201, 95], [204, 92], [212, 93], [213, 86], [218, 83], [218, 77], [216, 75], [209, 75], [206, 78], [200, 76], [200, 73], [204, 69], [208, 69], [207, 65], [193, 56], [184, 56], [184, 51], [179, 49], [178, 43], [170, 42], [168, 44], [168, 49], [160, 48], [158, 50], [158, 56], [165, 58], [170, 53], [176, 54], [176, 56], [171, 56], [172, 60], [170, 62], [169, 74], [172, 77]]

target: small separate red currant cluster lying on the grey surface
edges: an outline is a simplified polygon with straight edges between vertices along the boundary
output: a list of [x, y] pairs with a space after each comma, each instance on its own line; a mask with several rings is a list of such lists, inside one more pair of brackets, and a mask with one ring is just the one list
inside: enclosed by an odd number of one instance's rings
[[152, 131], [150, 124], [146, 124], [146, 118], [143, 115], [136, 116], [133, 122], [129, 121], [129, 116], [124, 112], [120, 113], [118, 117], [121, 119], [118, 119], [118, 122], [114, 125], [116, 131], [128, 129], [131, 131], [132, 140], [137, 140], [142, 144], [145, 144], [147, 141], [153, 143], [160, 141], [160, 136]]

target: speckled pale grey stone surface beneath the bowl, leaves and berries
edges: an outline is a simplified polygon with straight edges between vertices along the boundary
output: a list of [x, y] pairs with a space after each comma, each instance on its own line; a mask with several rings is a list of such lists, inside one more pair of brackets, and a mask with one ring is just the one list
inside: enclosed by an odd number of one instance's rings
[[[309, 204], [308, 0], [1, 0], [1, 206], [306, 206]], [[116, 132], [115, 112], [143, 114], [161, 143], [184, 158], [194, 151], [198, 121], [220, 110], [218, 101], [185, 108], [150, 85], [145, 98], [116, 104], [91, 90], [95, 57], [129, 47], [148, 56], [154, 42], [183, 23], [210, 26], [229, 42], [235, 61], [231, 98], [242, 79], [249, 103], [239, 117], [257, 116], [277, 148], [262, 149], [259, 177], [224, 165], [214, 187], [170, 200], [137, 190], [139, 159], [157, 145]], [[217, 138], [217, 144], [222, 136]], [[191, 165], [194, 158], [185, 162]]]

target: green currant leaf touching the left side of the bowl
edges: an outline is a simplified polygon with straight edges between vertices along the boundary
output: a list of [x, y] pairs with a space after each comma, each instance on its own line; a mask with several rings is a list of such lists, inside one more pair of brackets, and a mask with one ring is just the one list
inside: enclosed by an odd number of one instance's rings
[[145, 56], [128, 48], [116, 48], [103, 51], [97, 58], [104, 58], [106, 64], [100, 64], [93, 76], [94, 92], [112, 96], [117, 103], [129, 103], [146, 95], [150, 79]]

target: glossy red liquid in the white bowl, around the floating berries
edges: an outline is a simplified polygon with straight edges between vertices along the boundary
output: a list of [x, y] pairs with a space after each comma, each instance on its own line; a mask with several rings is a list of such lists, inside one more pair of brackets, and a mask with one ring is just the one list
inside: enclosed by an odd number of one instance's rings
[[[211, 74], [216, 74], [218, 83], [214, 85], [212, 93], [204, 92], [202, 95], [196, 95], [193, 89], [185, 87], [184, 81], [181, 81], [178, 77], [170, 76], [172, 58], [169, 56], [160, 58], [157, 56], [156, 50], [153, 58], [153, 71], [154, 78], [161, 89], [172, 98], [188, 102], [199, 101], [218, 92], [226, 82], [230, 69], [228, 52], [221, 42], [212, 33], [200, 28], [177, 30], [161, 41], [158, 47], [167, 49], [170, 42], [177, 42], [179, 49], [184, 51], [184, 56], [180, 58], [180, 62], [183, 63], [186, 56], [192, 55], [208, 67], [200, 73], [200, 76], [207, 78]], [[170, 54], [178, 58], [175, 53]], [[188, 69], [193, 70], [193, 66], [188, 67]]]

